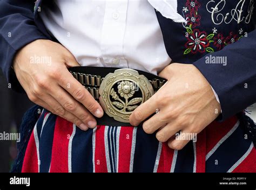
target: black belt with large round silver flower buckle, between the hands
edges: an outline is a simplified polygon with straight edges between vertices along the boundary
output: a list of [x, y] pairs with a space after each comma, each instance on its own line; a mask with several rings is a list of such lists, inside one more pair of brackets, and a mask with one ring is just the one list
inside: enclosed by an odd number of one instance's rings
[[166, 79], [145, 71], [118, 67], [70, 67], [79, 83], [99, 101], [104, 116], [98, 125], [131, 126], [129, 116], [160, 89]]

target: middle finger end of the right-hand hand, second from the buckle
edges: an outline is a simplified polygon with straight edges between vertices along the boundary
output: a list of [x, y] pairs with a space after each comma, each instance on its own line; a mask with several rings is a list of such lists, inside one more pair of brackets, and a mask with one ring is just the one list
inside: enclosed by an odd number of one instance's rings
[[154, 114], [154, 116], [144, 121], [143, 130], [147, 134], [152, 134], [166, 124], [167, 120], [164, 118], [164, 111], [159, 110], [156, 114]]

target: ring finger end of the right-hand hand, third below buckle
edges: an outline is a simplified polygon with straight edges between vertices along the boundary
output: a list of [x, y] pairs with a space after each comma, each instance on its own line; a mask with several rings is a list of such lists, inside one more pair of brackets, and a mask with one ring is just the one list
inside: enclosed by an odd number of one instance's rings
[[160, 142], [166, 142], [173, 135], [178, 133], [182, 128], [183, 126], [175, 125], [174, 122], [171, 122], [157, 132], [156, 134], [157, 140]]

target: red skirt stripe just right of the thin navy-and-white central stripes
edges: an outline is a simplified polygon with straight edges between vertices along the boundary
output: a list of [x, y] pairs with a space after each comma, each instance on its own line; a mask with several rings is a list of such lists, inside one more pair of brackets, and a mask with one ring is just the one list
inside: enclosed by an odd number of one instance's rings
[[133, 128], [134, 127], [121, 127], [119, 137], [118, 172], [130, 172]]

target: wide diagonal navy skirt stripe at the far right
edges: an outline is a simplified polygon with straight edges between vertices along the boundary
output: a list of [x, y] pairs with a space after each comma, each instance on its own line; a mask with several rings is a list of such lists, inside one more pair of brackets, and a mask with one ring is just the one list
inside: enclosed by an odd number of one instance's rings
[[206, 161], [206, 172], [227, 172], [248, 150], [251, 140], [244, 138], [240, 124]]

